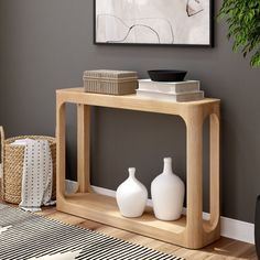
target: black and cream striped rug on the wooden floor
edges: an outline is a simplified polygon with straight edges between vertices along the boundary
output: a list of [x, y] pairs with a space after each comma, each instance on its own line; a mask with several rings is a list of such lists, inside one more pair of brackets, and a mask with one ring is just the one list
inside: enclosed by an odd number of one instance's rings
[[0, 204], [0, 260], [183, 260]]

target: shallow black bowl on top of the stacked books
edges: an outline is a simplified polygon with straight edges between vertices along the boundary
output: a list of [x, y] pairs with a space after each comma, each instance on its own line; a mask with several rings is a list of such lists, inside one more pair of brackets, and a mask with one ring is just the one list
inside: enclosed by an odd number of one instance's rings
[[155, 69], [148, 71], [148, 74], [153, 82], [183, 82], [187, 72], [174, 69]]

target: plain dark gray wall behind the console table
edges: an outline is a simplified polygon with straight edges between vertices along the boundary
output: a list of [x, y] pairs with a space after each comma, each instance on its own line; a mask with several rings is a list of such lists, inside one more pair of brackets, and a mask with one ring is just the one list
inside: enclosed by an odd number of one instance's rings
[[[219, 7], [216, 1], [216, 10]], [[85, 69], [134, 69], [140, 77], [151, 68], [187, 69], [188, 78], [202, 82], [206, 96], [221, 99], [223, 215], [253, 221], [260, 193], [259, 69], [231, 53], [223, 23], [215, 25], [215, 35], [214, 48], [97, 46], [91, 0], [0, 0], [0, 123], [9, 137], [54, 134], [55, 89], [80, 86]], [[69, 108], [71, 176], [74, 115]], [[127, 177], [127, 167], [137, 166], [149, 186], [166, 155], [173, 156], [174, 171], [185, 180], [181, 119], [101, 108], [94, 109], [93, 117], [93, 184], [115, 189]], [[207, 188], [205, 209], [206, 197]]]

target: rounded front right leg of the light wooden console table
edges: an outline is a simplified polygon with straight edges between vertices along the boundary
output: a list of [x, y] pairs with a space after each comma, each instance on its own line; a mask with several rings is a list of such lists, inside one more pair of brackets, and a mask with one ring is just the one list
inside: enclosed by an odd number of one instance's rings
[[185, 119], [187, 145], [186, 242], [189, 248], [203, 247], [203, 111], [192, 110]]

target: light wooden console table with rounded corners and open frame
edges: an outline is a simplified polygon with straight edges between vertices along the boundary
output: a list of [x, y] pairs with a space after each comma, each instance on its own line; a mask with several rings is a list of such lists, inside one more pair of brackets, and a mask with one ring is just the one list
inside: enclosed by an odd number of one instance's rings
[[[83, 88], [56, 91], [57, 209], [186, 248], [198, 249], [219, 238], [219, 100], [170, 102], [137, 97], [84, 93]], [[77, 180], [79, 189], [65, 195], [65, 105], [77, 105]], [[151, 208], [139, 218], [122, 217], [116, 199], [95, 194], [89, 183], [90, 106], [180, 116], [186, 124], [186, 216], [162, 221]], [[209, 210], [203, 219], [203, 122], [209, 117]]]

